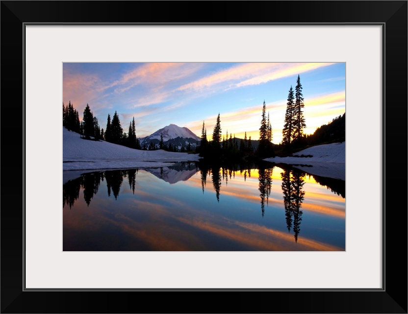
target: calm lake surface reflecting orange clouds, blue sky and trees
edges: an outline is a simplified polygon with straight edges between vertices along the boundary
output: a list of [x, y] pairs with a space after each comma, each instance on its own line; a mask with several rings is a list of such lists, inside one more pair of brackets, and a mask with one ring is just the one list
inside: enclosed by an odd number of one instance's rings
[[63, 250], [344, 251], [345, 182], [272, 164], [83, 174], [63, 185]]

